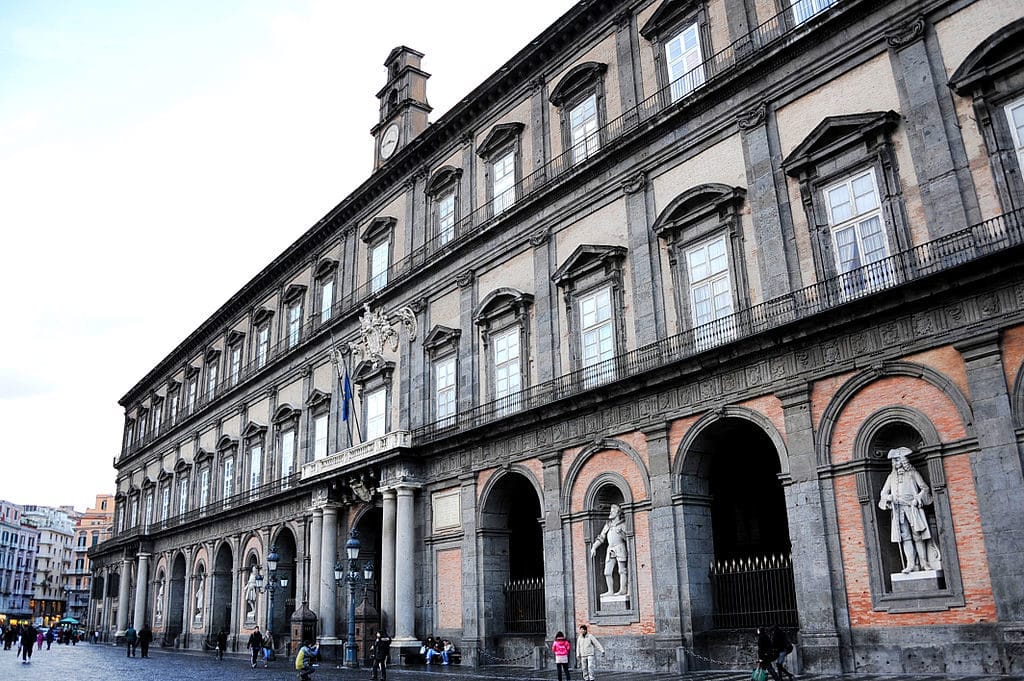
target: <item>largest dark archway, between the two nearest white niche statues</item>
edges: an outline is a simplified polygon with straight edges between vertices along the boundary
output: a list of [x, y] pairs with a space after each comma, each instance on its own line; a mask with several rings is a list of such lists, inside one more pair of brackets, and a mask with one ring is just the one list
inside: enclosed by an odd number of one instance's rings
[[727, 416], [684, 444], [682, 553], [694, 634], [798, 625], [780, 456], [766, 428]]

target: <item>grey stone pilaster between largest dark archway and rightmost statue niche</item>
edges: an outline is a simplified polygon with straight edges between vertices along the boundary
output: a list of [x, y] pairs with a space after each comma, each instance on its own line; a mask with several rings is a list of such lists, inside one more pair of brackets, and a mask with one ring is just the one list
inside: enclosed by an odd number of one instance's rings
[[[793, 551], [793, 578], [800, 613], [801, 666], [818, 673], [844, 670], [837, 620], [849, 621], [846, 587], [838, 546], [839, 527], [835, 520], [831, 491], [824, 490], [817, 474], [814, 425], [811, 422], [810, 391], [807, 386], [779, 391], [785, 420], [790, 455], [790, 482], [785, 485], [785, 512]], [[828, 538], [833, 538], [831, 544]], [[837, 612], [837, 604], [843, 608]], [[849, 631], [849, 626], [844, 629]]]

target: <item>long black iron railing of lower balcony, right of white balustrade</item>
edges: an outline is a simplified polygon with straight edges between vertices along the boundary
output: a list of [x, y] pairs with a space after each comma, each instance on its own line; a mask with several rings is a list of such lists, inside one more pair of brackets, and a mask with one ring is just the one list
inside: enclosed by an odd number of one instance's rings
[[959, 231], [921, 244], [888, 258], [822, 280], [784, 296], [741, 309], [709, 324], [617, 355], [614, 371], [602, 366], [580, 369], [514, 395], [445, 417], [413, 431], [413, 445], [477, 428], [519, 411], [544, 407], [603, 384], [638, 376], [692, 357], [725, 343], [835, 309], [893, 287], [932, 276], [983, 256], [1024, 244], [1024, 209], [1006, 213]]

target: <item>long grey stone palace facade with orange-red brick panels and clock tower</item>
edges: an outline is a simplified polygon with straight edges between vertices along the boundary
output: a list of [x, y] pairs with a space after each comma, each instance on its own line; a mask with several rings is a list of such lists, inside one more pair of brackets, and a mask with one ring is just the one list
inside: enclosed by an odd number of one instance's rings
[[332, 650], [357, 530], [360, 612], [464, 664], [1019, 673], [1022, 39], [588, 0], [430, 125], [395, 48], [367, 181], [122, 398], [102, 628]]

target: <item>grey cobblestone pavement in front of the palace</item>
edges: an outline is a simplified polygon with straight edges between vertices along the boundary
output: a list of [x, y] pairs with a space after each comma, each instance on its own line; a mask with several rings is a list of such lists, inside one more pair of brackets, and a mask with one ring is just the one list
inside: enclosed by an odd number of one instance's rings
[[[13, 650], [0, 650], [0, 681], [295, 681], [291, 661], [281, 659], [269, 669], [251, 669], [243, 655], [228, 655], [218, 661], [213, 653], [150, 651], [151, 656], [126, 657], [125, 649], [110, 645], [54, 645], [50, 650], [36, 650], [30, 665], [23, 665]], [[579, 672], [572, 676], [580, 681]], [[599, 670], [600, 672], [600, 670]], [[521, 667], [394, 667], [391, 681], [554, 681], [554, 670], [529, 670]], [[948, 676], [948, 675], [867, 675], [843, 677], [802, 675], [800, 681], [1024, 681], [1024, 676]], [[370, 671], [339, 669], [324, 663], [313, 681], [370, 681]], [[646, 672], [604, 672], [598, 681], [749, 681], [750, 672], [693, 672], [689, 674], [651, 674]]]

